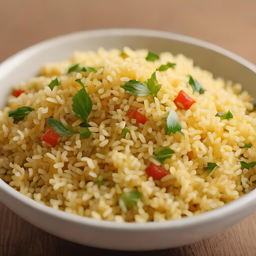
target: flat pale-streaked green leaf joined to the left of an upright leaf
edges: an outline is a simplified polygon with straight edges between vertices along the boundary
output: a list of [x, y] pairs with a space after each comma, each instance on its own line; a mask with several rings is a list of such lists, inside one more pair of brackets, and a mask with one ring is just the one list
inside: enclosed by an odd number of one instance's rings
[[150, 90], [145, 83], [138, 80], [130, 80], [121, 86], [126, 92], [131, 95], [147, 96], [151, 94]]

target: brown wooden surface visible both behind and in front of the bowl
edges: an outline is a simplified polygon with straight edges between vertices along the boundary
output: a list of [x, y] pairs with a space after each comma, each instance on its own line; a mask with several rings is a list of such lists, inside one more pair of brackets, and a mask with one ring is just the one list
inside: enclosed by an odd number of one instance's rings
[[[255, 0], [10, 0], [0, 3], [0, 61], [41, 40], [86, 29], [139, 27], [194, 36], [256, 64]], [[128, 255], [52, 236], [0, 203], [0, 255]], [[256, 213], [192, 245], [133, 255], [256, 255]]]

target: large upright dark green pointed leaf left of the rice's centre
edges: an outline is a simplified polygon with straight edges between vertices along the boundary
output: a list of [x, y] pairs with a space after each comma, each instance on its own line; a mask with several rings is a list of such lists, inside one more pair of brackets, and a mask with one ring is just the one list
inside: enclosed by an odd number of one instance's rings
[[74, 95], [72, 108], [76, 117], [87, 123], [88, 116], [92, 111], [92, 100], [85, 88], [82, 88]]

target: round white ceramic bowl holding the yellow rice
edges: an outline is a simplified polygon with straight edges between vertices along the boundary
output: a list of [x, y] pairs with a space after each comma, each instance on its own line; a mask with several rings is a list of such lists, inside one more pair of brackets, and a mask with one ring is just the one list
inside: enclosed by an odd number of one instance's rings
[[[106, 29], [46, 40], [8, 58], [0, 64], [0, 108], [7, 103], [11, 86], [36, 76], [43, 63], [65, 60], [74, 50], [122, 49], [126, 45], [156, 53], [183, 53], [215, 77], [240, 82], [256, 96], [256, 67], [225, 49], [162, 31]], [[194, 243], [240, 222], [256, 210], [256, 190], [199, 216], [149, 223], [115, 223], [65, 213], [27, 198], [2, 180], [0, 201], [36, 227], [75, 243], [106, 249], [152, 250]]]

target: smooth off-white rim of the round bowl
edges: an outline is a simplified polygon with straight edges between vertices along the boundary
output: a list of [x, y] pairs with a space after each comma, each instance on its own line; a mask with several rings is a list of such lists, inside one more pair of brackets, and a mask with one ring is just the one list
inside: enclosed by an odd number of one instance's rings
[[[158, 31], [151, 29], [97, 29], [97, 30], [87, 30], [87, 31], [79, 31], [71, 34], [66, 34], [62, 36], [57, 36], [54, 38], [50, 38], [44, 40], [40, 43], [27, 47], [20, 52], [10, 56], [5, 61], [0, 63], [0, 78], [4, 75], [5, 72], [12, 70], [13, 67], [20, 65], [25, 59], [29, 58], [33, 54], [40, 52], [42, 50], [47, 49], [48, 47], [52, 47], [53, 45], [58, 45], [59, 43], [65, 41], [73, 41], [74, 39], [79, 38], [95, 38], [99, 36], [150, 36], [155, 38], [165, 38], [177, 40], [184, 43], [189, 43], [192, 45], [197, 45], [206, 49], [210, 49], [213, 52], [222, 54], [228, 58], [233, 59], [234, 61], [240, 63], [241, 65], [249, 68], [252, 72], [256, 73], [256, 66], [245, 60], [245, 58], [238, 56], [232, 52], [229, 52], [222, 47], [214, 45], [212, 43], [206, 42], [204, 40], [200, 40], [197, 38], [193, 38], [190, 36], [184, 36], [180, 34], [175, 34], [166, 31]], [[31, 207], [35, 210], [42, 211], [47, 215], [51, 215], [52, 217], [62, 219], [67, 222], [74, 222], [80, 225], [87, 225], [91, 227], [100, 227], [102, 229], [112, 229], [112, 230], [136, 230], [136, 231], [144, 231], [144, 230], [155, 230], [155, 229], [177, 229], [182, 227], [194, 227], [199, 224], [202, 225], [202, 222], [209, 223], [210, 221], [218, 221], [222, 218], [228, 218], [234, 214], [237, 214], [239, 211], [246, 207], [247, 204], [255, 203], [256, 201], [256, 189], [250, 191], [249, 193], [243, 195], [242, 197], [225, 204], [224, 206], [213, 209], [211, 211], [207, 211], [205, 213], [201, 213], [197, 216], [192, 216], [188, 218], [182, 218], [178, 220], [166, 220], [164, 222], [112, 222], [107, 220], [95, 220], [90, 217], [78, 216], [75, 214], [66, 213], [61, 210], [53, 209], [52, 207], [45, 206], [40, 204], [26, 195], [16, 191], [7, 183], [5, 183], [2, 179], [0, 179], [0, 191], [9, 195], [16, 200], [19, 200], [23, 204], [28, 207]], [[1, 193], [2, 194], [2, 193]], [[4, 200], [3, 200], [4, 201]]]

